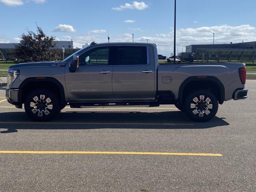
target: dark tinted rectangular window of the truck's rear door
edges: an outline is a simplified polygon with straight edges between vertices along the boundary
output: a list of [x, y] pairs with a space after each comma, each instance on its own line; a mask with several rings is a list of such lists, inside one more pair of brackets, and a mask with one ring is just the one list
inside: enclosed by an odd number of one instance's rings
[[146, 46], [118, 46], [118, 65], [147, 65]]

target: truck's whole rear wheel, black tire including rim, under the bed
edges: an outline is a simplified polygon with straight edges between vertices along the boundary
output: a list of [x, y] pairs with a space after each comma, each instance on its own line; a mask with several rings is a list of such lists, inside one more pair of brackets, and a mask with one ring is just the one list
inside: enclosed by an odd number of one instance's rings
[[214, 118], [217, 111], [218, 100], [212, 92], [207, 90], [190, 92], [184, 103], [184, 112], [195, 122], [209, 121]]

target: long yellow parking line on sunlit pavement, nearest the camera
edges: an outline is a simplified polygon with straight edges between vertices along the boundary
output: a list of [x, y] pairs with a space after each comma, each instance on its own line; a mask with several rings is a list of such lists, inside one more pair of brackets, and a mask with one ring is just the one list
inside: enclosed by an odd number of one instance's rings
[[0, 151], [12, 154], [118, 154], [118, 155], [182, 155], [182, 156], [218, 156], [214, 153], [169, 153], [169, 152], [112, 152], [112, 151]]

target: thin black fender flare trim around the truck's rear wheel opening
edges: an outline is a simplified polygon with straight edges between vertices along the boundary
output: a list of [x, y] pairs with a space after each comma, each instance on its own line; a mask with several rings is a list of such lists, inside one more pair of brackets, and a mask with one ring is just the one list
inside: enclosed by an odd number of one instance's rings
[[222, 84], [222, 82], [213, 76], [193, 76], [193, 77], [189, 77], [186, 80], [184, 80], [184, 82], [182, 82], [180, 88], [179, 88], [179, 102], [182, 104], [182, 100], [183, 100], [183, 92], [184, 92], [184, 88], [192, 81], [212, 81], [214, 83], [216, 83], [219, 88], [220, 88], [220, 98], [219, 100], [219, 104], [223, 104], [224, 100], [225, 100], [225, 87]]

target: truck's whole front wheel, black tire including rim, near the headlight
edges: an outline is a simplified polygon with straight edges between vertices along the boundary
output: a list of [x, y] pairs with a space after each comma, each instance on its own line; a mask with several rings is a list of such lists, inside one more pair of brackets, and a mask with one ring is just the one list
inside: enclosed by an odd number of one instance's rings
[[[28, 94], [25, 99], [24, 108], [26, 114], [32, 120], [49, 121], [60, 112], [60, 102], [54, 92], [41, 88]], [[34, 110], [34, 112], [32, 112], [32, 110]]]

